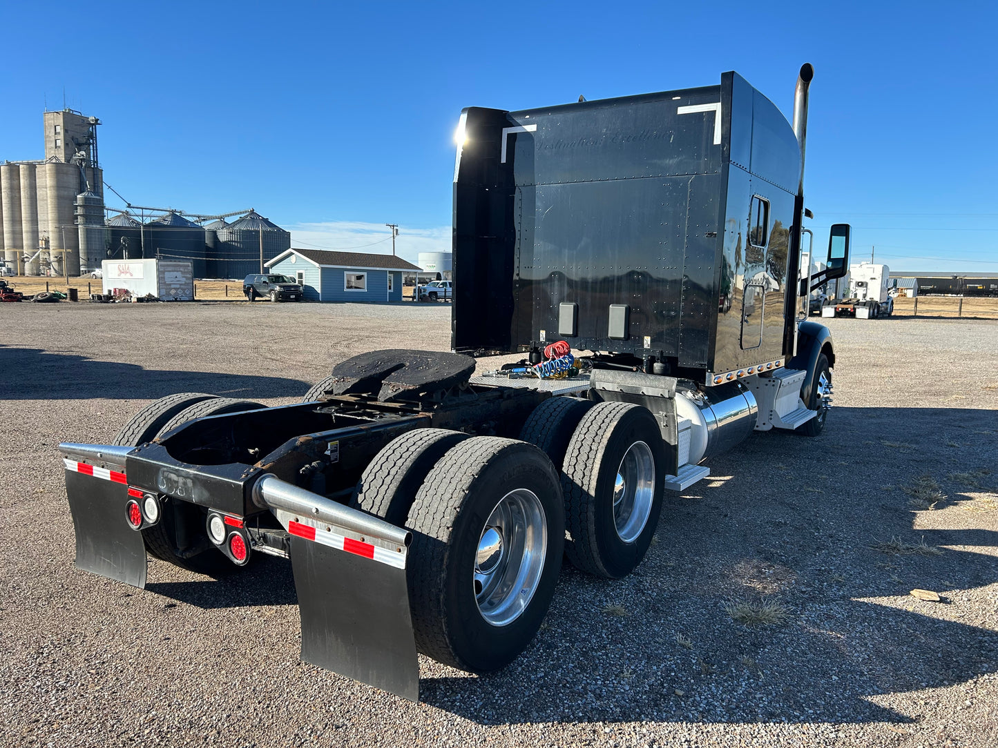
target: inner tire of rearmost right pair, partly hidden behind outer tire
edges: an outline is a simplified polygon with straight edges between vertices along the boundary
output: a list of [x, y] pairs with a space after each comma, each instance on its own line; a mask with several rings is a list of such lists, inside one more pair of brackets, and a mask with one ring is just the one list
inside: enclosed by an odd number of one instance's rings
[[392, 525], [405, 525], [427, 474], [468, 438], [460, 431], [415, 429], [392, 439], [364, 469], [353, 506]]

